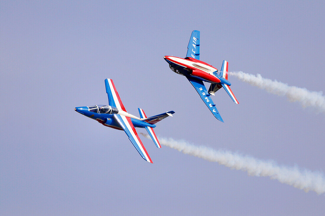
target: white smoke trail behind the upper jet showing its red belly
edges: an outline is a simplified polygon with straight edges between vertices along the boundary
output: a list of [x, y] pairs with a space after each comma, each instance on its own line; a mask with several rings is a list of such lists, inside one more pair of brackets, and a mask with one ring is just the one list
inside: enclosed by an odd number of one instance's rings
[[253, 75], [239, 71], [229, 72], [229, 75], [269, 93], [286, 96], [290, 102], [300, 102], [303, 107], [314, 107], [318, 112], [325, 113], [325, 97], [321, 91], [309, 91], [305, 88], [288, 86], [286, 83], [263, 78], [260, 74]]

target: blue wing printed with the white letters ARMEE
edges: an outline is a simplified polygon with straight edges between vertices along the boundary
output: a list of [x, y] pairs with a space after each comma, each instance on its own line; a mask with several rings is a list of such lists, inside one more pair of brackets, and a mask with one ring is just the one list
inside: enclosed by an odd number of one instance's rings
[[201, 99], [204, 101], [205, 105], [210, 109], [214, 117], [216, 117], [219, 121], [224, 122], [217, 108], [215, 108], [215, 104], [212, 101], [210, 94], [208, 94], [208, 91], [206, 90], [203, 81], [192, 77], [186, 77], [186, 78], [188, 79], [188, 81], [190, 81], [190, 83], [193, 85], [195, 90], [199, 93]]

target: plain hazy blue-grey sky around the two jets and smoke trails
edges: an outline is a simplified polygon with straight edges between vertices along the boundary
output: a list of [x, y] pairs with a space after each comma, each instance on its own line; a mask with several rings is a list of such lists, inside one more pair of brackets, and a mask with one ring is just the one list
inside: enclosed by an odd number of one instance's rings
[[[319, 2], [2, 1], [2, 215], [322, 215], [324, 195], [252, 177], [142, 138], [145, 162], [123, 131], [74, 111], [107, 104], [112, 78], [129, 113], [174, 110], [158, 136], [324, 172], [323, 114], [229, 76], [217, 121], [164, 55], [200, 59], [324, 91]], [[138, 129], [138, 132], [145, 132]]]

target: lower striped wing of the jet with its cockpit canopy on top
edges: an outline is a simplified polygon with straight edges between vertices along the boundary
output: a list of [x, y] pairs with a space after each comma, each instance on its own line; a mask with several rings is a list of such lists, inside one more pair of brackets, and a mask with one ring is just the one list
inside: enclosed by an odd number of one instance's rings
[[146, 161], [152, 163], [151, 158], [146, 150], [146, 148], [143, 146], [141, 139], [139, 138], [138, 134], [136, 133], [136, 129], [134, 128], [131, 118], [126, 117], [124, 115], [119, 114], [113, 114], [115, 120], [120, 124], [120, 126], [123, 128], [126, 135], [129, 137], [130, 141], [132, 142], [133, 146], [136, 148], [136, 150], [139, 152], [141, 157], [145, 159]]

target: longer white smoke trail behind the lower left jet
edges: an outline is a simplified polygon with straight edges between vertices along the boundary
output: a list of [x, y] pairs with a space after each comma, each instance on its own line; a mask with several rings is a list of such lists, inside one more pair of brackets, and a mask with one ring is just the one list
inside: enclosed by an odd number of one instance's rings
[[[151, 139], [146, 134], [142, 135]], [[313, 190], [318, 194], [325, 192], [325, 178], [324, 174], [320, 172], [301, 171], [298, 167], [279, 166], [274, 161], [262, 161], [247, 155], [243, 156], [230, 151], [196, 146], [172, 138], [159, 138], [159, 142], [184, 154], [193, 155], [211, 162], [218, 162], [232, 169], [246, 171], [249, 175], [268, 176], [271, 179], [277, 179], [281, 183], [305, 190], [305, 192], [309, 190]]]

